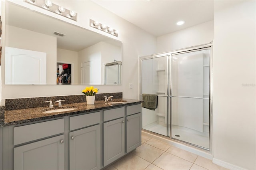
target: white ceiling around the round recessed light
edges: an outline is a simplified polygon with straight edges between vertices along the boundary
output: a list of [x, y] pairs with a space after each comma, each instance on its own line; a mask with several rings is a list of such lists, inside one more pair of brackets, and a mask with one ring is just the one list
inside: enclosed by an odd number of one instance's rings
[[[92, 0], [154, 36], [214, 19], [213, 0]], [[177, 26], [183, 20], [185, 24]]]

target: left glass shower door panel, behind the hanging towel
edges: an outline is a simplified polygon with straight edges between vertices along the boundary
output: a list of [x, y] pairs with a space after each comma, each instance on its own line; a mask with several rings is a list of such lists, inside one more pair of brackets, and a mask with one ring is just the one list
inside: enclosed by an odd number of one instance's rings
[[[169, 55], [141, 60], [141, 95], [157, 95], [157, 108], [142, 107], [142, 128], [170, 136], [169, 103]], [[143, 105], [142, 105], [143, 106]]]

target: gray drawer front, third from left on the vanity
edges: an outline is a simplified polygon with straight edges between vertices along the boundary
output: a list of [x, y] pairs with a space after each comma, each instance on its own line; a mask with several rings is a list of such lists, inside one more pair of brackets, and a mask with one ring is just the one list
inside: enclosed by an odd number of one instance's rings
[[124, 117], [124, 107], [103, 111], [103, 121]]

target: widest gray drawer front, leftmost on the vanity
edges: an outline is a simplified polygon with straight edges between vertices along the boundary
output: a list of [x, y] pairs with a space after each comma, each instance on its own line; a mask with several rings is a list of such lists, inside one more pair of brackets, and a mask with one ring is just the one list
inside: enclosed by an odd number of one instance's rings
[[64, 133], [64, 119], [14, 127], [13, 143], [21, 144], [60, 133]]

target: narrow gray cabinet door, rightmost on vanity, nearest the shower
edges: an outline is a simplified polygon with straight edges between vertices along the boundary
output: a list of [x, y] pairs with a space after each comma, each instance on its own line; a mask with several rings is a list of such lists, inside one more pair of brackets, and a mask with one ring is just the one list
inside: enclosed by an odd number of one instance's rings
[[141, 113], [126, 117], [126, 152], [141, 145]]

